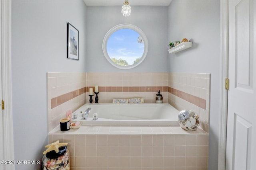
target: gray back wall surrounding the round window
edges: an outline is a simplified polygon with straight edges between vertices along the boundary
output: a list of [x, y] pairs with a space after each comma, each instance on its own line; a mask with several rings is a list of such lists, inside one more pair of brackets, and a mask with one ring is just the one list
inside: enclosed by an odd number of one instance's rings
[[[167, 6], [132, 6], [129, 17], [122, 16], [121, 6], [88, 6], [87, 16], [87, 72], [168, 72]], [[128, 70], [112, 66], [102, 51], [108, 30], [122, 23], [142, 29], [149, 44], [146, 59]]]

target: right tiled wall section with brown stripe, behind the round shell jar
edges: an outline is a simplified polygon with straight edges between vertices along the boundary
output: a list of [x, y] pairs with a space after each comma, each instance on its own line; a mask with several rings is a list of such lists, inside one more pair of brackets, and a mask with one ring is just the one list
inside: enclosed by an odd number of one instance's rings
[[200, 127], [208, 132], [210, 74], [169, 73], [168, 92], [168, 103], [179, 111], [194, 110], [200, 116]]

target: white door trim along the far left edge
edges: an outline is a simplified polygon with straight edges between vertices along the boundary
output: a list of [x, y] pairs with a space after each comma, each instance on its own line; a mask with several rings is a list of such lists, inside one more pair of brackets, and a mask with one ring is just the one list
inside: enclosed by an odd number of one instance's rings
[[[11, 79], [11, 14], [12, 1], [0, 0], [0, 60], [1, 60], [1, 78], [2, 78], [2, 99], [4, 100], [3, 117], [3, 145], [4, 160], [14, 160], [14, 139], [12, 124], [12, 79]], [[0, 108], [2, 109], [2, 108]], [[14, 170], [14, 164], [2, 165], [6, 170]]]

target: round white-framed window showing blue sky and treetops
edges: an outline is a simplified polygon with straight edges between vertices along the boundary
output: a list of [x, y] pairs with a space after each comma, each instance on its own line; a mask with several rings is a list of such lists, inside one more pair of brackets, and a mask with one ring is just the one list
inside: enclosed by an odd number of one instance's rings
[[102, 49], [113, 66], [121, 69], [134, 68], [142, 63], [148, 53], [148, 39], [134, 25], [116, 25], [106, 33]]

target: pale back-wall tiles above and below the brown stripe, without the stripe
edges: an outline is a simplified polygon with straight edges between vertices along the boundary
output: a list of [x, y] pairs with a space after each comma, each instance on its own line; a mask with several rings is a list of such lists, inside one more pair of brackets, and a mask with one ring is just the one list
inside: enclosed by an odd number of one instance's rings
[[[87, 73], [87, 86], [168, 86], [167, 72], [136, 72], [136, 73]], [[164, 102], [168, 102], [168, 93], [163, 94]], [[100, 92], [100, 103], [112, 103], [113, 98], [144, 98], [146, 103], [154, 103], [156, 92]], [[87, 101], [90, 97], [86, 95]]]

